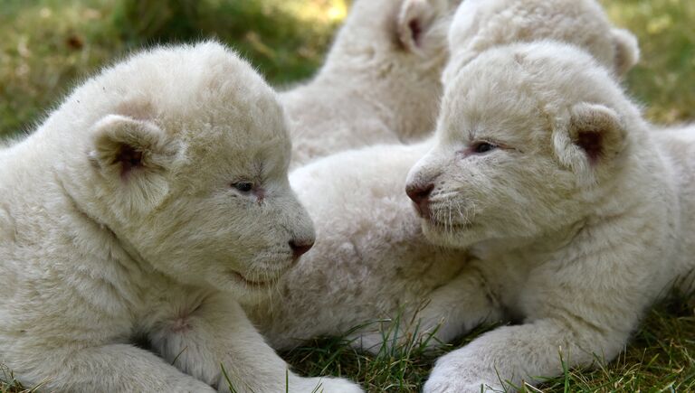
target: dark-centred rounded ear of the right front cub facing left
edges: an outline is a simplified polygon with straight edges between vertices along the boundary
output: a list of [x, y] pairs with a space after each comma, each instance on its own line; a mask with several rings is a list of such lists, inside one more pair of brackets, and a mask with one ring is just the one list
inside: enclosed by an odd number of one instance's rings
[[626, 133], [621, 117], [611, 108], [582, 102], [570, 109], [569, 137], [589, 164], [620, 154]]

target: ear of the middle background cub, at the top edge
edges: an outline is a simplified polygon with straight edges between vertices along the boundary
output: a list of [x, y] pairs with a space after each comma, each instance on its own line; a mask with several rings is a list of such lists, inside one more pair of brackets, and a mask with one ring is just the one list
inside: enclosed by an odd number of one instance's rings
[[405, 0], [396, 19], [398, 41], [407, 51], [422, 52], [425, 34], [447, 8], [447, 0]]

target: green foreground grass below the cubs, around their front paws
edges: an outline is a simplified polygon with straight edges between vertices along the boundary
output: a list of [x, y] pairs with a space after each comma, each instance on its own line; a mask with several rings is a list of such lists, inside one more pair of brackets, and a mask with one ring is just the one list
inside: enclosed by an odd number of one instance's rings
[[[566, 370], [529, 392], [695, 391], [695, 315], [682, 296], [674, 295], [653, 307], [633, 340], [618, 359], [595, 360], [594, 370]], [[434, 360], [459, 348], [494, 326], [481, 327], [458, 342], [426, 353], [412, 342], [401, 351], [367, 355], [348, 342], [326, 338], [284, 354], [301, 373], [333, 374], [356, 379], [368, 391], [418, 392]], [[560, 356], [558, 365], [562, 364]]]

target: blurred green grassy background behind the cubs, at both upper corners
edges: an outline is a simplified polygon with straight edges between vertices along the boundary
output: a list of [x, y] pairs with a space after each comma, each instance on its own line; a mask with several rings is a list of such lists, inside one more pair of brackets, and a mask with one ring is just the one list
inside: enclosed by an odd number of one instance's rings
[[[603, 4], [640, 38], [643, 61], [628, 84], [648, 116], [695, 118], [695, 1]], [[0, 0], [0, 136], [31, 130], [82, 78], [159, 42], [217, 37], [276, 86], [305, 79], [348, 8], [349, 0]]]

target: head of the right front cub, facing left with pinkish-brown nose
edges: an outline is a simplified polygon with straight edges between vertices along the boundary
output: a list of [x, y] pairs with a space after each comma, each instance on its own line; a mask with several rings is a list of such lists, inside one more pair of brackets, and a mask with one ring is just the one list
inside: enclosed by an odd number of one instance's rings
[[[433, 243], [527, 239], [583, 220], [621, 176], [637, 109], [590, 55], [486, 51], [447, 86], [436, 144], [406, 191]], [[470, 76], [474, 75], [474, 78]]]

